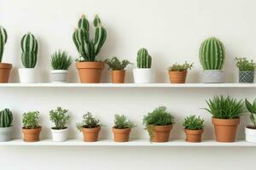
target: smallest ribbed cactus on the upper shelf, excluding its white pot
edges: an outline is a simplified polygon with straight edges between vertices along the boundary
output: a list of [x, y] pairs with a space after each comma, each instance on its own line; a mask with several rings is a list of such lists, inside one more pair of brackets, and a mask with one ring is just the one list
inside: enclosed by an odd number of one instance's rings
[[140, 48], [137, 52], [137, 68], [151, 68], [152, 58], [146, 48]]

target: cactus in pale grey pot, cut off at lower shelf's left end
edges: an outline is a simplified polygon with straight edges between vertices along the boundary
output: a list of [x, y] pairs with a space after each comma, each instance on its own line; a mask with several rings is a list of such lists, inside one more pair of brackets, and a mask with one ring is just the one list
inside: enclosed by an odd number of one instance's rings
[[13, 114], [9, 109], [0, 111], [0, 142], [7, 142], [11, 139], [13, 131]]

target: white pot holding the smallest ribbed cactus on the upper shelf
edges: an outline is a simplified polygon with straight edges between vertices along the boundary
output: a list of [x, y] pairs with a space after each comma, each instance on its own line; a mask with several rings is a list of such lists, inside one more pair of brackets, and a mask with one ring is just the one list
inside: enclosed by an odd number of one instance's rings
[[133, 69], [133, 79], [135, 83], [151, 83], [154, 82], [154, 71], [144, 68]]

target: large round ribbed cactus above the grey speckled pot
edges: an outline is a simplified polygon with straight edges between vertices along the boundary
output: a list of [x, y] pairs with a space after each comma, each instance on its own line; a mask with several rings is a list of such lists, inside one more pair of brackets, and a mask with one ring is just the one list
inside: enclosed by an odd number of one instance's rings
[[204, 70], [221, 70], [224, 56], [224, 45], [216, 37], [209, 37], [201, 43], [199, 58]]

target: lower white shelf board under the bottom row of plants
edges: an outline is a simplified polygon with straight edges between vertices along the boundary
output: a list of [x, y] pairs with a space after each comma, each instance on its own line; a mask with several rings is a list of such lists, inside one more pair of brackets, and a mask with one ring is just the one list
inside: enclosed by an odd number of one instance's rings
[[97, 142], [84, 142], [82, 139], [68, 139], [66, 142], [53, 142], [51, 139], [42, 139], [39, 142], [24, 142], [23, 139], [14, 139], [9, 142], [1, 142], [0, 146], [122, 146], [122, 147], [173, 147], [173, 146], [256, 146], [245, 140], [237, 140], [233, 143], [221, 143], [215, 140], [203, 140], [201, 143], [189, 143], [181, 139], [172, 139], [166, 143], [150, 143], [148, 139], [131, 139], [129, 142], [118, 143], [112, 139], [100, 139]]

